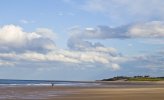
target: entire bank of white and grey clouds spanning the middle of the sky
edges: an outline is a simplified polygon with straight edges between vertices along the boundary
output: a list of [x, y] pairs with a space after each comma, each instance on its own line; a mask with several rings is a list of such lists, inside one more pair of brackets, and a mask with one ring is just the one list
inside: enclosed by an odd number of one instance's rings
[[[70, 30], [69, 49], [55, 45], [55, 33], [47, 28], [38, 28], [35, 32], [25, 32], [20, 26], [5, 25], [0, 28], [0, 66], [17, 66], [20, 63], [50, 63], [63, 66], [101, 66], [112, 70], [120, 70], [126, 63], [141, 62], [141, 65], [158, 65], [163, 61], [161, 56], [122, 55], [117, 49], [106, 47], [94, 39], [133, 39], [164, 38], [164, 23], [152, 21], [111, 28], [97, 26], [95, 28], [74, 27]], [[142, 58], [142, 59], [140, 59]], [[158, 59], [151, 60], [151, 59]], [[52, 66], [51, 65], [51, 66]], [[162, 63], [163, 65], [163, 63]]]

